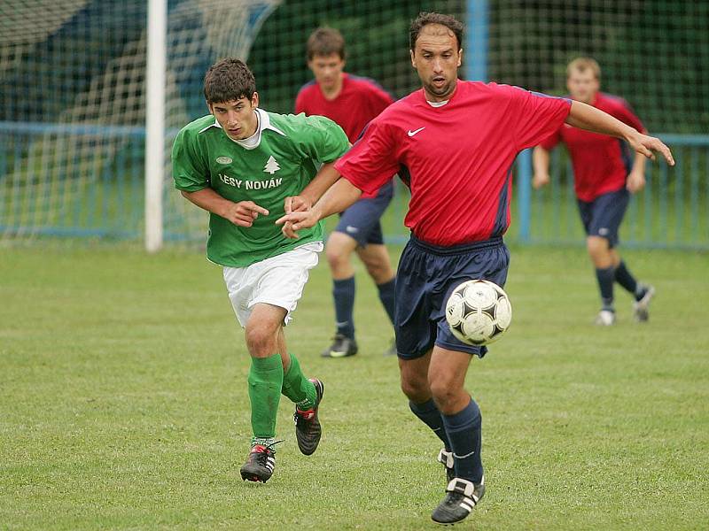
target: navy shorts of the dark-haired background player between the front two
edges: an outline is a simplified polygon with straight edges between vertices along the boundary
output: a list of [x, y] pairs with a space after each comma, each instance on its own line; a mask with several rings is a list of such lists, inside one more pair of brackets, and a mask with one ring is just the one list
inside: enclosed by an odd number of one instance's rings
[[360, 247], [369, 243], [384, 243], [379, 223], [386, 207], [392, 202], [393, 182], [387, 182], [375, 197], [360, 199], [339, 216], [335, 231], [354, 239]]

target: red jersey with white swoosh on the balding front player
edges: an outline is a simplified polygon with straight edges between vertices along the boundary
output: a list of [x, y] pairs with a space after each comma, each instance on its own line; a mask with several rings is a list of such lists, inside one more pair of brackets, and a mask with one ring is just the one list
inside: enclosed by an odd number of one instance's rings
[[510, 225], [518, 152], [557, 130], [570, 110], [565, 98], [495, 83], [459, 80], [439, 107], [419, 89], [373, 119], [335, 167], [369, 192], [405, 166], [411, 200], [404, 224], [413, 234], [441, 246], [481, 242]]

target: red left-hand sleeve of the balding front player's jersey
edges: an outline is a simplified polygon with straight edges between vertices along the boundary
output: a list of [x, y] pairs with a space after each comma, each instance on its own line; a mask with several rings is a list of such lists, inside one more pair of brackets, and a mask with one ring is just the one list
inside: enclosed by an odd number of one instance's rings
[[374, 119], [335, 169], [356, 188], [373, 194], [399, 170], [394, 143], [391, 129]]

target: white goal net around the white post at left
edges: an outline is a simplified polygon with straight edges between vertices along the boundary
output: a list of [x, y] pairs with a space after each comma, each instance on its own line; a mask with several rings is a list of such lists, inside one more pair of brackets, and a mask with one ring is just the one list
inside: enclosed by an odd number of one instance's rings
[[[176, 130], [206, 112], [200, 96], [206, 68], [217, 58], [247, 57], [253, 36], [277, 4], [170, 4], [166, 169]], [[139, 0], [0, 7], [5, 237], [141, 237], [146, 10]], [[185, 208], [173, 193], [165, 198], [166, 236], [203, 238], [199, 211]]]

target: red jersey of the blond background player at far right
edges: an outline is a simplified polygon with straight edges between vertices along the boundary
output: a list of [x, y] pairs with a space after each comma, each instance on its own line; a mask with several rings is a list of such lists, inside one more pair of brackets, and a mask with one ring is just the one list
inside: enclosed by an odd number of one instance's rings
[[[638, 131], [645, 131], [643, 123], [624, 99], [598, 93], [591, 104]], [[558, 142], [564, 142], [569, 150], [574, 188], [581, 201], [590, 202], [597, 196], [625, 187], [634, 157], [626, 142], [564, 124], [540, 145], [551, 150]]]

